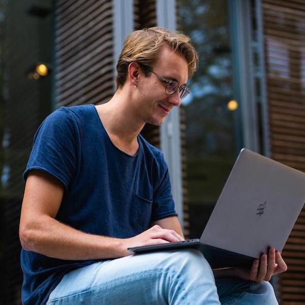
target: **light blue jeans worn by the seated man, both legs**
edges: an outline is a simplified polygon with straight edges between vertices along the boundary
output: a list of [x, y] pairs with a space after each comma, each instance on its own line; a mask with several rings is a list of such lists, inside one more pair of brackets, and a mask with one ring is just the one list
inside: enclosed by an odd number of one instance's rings
[[215, 283], [203, 255], [192, 249], [131, 255], [68, 273], [51, 292], [51, 304], [278, 304], [268, 282]]

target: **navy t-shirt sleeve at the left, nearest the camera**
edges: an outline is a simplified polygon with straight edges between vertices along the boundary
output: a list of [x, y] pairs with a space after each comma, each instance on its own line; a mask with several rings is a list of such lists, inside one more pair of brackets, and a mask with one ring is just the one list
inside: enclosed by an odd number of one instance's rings
[[75, 134], [75, 123], [64, 107], [47, 116], [34, 136], [24, 180], [38, 169], [59, 179], [67, 190], [76, 170]]

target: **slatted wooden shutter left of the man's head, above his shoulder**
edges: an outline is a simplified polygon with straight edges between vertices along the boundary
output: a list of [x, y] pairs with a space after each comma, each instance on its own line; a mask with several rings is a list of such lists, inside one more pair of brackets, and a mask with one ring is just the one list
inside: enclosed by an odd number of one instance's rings
[[112, 1], [55, 3], [55, 107], [108, 101], [114, 93]]

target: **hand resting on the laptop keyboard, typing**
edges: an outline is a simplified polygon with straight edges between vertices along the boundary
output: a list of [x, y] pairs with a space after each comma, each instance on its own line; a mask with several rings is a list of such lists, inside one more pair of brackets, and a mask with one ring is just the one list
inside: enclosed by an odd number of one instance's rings
[[158, 245], [159, 243], [177, 242], [185, 240], [176, 231], [163, 229], [159, 225], [155, 225], [143, 233], [131, 238], [123, 239], [123, 256], [130, 255], [132, 252], [127, 248]]

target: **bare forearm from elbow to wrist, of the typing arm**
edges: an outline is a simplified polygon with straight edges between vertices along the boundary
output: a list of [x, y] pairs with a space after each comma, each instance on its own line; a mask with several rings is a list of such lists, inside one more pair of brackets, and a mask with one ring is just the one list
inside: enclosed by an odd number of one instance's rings
[[128, 255], [124, 239], [87, 234], [44, 216], [22, 230], [20, 240], [27, 251], [65, 260], [117, 258]]

